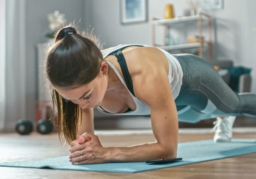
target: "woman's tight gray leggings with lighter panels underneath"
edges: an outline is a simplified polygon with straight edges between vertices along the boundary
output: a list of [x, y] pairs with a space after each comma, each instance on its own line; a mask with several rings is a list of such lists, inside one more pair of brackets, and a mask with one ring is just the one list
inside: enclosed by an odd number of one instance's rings
[[175, 99], [179, 121], [195, 123], [237, 115], [256, 117], [256, 94], [235, 93], [212, 65], [198, 56], [174, 56], [183, 69], [181, 91]]

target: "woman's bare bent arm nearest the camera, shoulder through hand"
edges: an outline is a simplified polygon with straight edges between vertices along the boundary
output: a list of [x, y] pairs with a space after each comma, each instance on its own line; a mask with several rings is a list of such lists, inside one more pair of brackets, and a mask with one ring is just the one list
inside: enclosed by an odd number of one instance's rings
[[[152, 58], [150, 56], [152, 55], [149, 54], [148, 58]], [[143, 60], [143, 58], [147, 57], [141, 56], [140, 59]], [[165, 58], [165, 56], [160, 55], [159, 58]], [[130, 147], [104, 148], [97, 136], [87, 133], [85, 135], [90, 138], [90, 141], [72, 148], [75, 151], [72, 153], [73, 164], [145, 161], [177, 156], [178, 114], [168, 72], [163, 64], [154, 61], [147, 64], [148, 66], [136, 63], [146, 70], [136, 72], [132, 79], [136, 96], [150, 106], [152, 130], [156, 141]], [[85, 150], [82, 156], [79, 151], [81, 149]]]

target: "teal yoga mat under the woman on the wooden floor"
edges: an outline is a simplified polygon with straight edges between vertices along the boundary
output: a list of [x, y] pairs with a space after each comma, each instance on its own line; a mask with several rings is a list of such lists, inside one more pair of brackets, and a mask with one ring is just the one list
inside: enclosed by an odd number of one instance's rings
[[68, 156], [0, 163], [2, 167], [53, 168], [98, 172], [136, 173], [256, 152], [255, 139], [233, 139], [231, 142], [214, 143], [213, 140], [179, 143], [178, 156], [183, 160], [172, 163], [146, 164], [145, 162], [103, 163], [72, 165]]

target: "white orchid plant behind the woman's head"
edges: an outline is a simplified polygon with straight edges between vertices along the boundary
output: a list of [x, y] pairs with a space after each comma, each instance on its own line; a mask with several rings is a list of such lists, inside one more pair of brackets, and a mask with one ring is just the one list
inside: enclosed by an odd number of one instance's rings
[[50, 32], [48, 32], [46, 36], [49, 38], [54, 38], [57, 30], [66, 24], [65, 15], [61, 14], [59, 11], [54, 11], [53, 13], [48, 14], [48, 21]]

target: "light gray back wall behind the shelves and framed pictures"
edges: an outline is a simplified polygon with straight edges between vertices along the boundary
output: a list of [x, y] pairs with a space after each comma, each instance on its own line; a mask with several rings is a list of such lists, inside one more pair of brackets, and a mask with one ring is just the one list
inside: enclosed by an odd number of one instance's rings
[[[175, 16], [184, 16], [189, 9], [187, 0], [149, 0], [149, 21], [134, 25], [121, 25], [117, 0], [86, 0], [85, 9], [89, 12], [86, 26], [94, 27], [100, 35], [104, 47], [117, 44], [141, 43], [152, 45], [150, 20], [162, 19], [167, 3], [172, 3]], [[224, 0], [224, 9], [208, 11], [215, 23], [214, 60], [232, 59], [235, 65], [252, 67], [253, 87], [256, 93], [256, 28], [254, 0]], [[161, 31], [160, 31], [161, 32]], [[160, 34], [161, 35], [161, 34]]]

